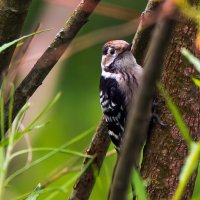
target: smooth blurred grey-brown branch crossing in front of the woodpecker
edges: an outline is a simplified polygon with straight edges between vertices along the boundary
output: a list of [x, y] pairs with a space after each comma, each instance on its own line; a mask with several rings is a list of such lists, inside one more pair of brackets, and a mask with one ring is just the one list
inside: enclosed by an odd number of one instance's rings
[[[144, 78], [135, 99], [135, 106], [130, 112], [124, 145], [111, 188], [111, 200], [124, 200], [130, 182], [132, 167], [136, 167], [142, 144], [147, 132], [149, 102], [153, 95], [156, 81], [161, 74], [165, 49], [172, 31], [172, 21], [165, 20], [157, 24], [150, 43], [150, 57], [144, 67]], [[163, 48], [165, 47], [165, 48]], [[125, 170], [126, 169], [126, 170]]]

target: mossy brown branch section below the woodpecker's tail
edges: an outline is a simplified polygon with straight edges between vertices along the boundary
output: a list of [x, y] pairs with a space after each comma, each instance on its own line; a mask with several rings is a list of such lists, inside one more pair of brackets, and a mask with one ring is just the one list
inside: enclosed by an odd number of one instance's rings
[[[92, 164], [86, 169], [86, 171], [81, 175], [81, 177], [76, 181], [73, 187], [73, 191], [70, 196], [70, 200], [86, 200], [89, 198], [93, 186], [95, 184], [95, 174], [100, 171], [101, 165], [103, 163], [104, 157], [108, 150], [110, 144], [110, 139], [108, 136], [108, 130], [104, 119], [99, 124], [96, 134], [87, 150], [88, 155], [95, 155], [95, 159]], [[87, 165], [90, 159], [85, 159], [83, 162], [83, 167]]]

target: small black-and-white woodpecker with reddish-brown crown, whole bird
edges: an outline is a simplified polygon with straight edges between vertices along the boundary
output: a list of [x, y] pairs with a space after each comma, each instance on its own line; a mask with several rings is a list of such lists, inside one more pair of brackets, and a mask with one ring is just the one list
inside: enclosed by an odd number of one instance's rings
[[109, 135], [117, 150], [126, 118], [143, 76], [143, 68], [131, 53], [131, 45], [113, 40], [103, 46], [100, 103]]

